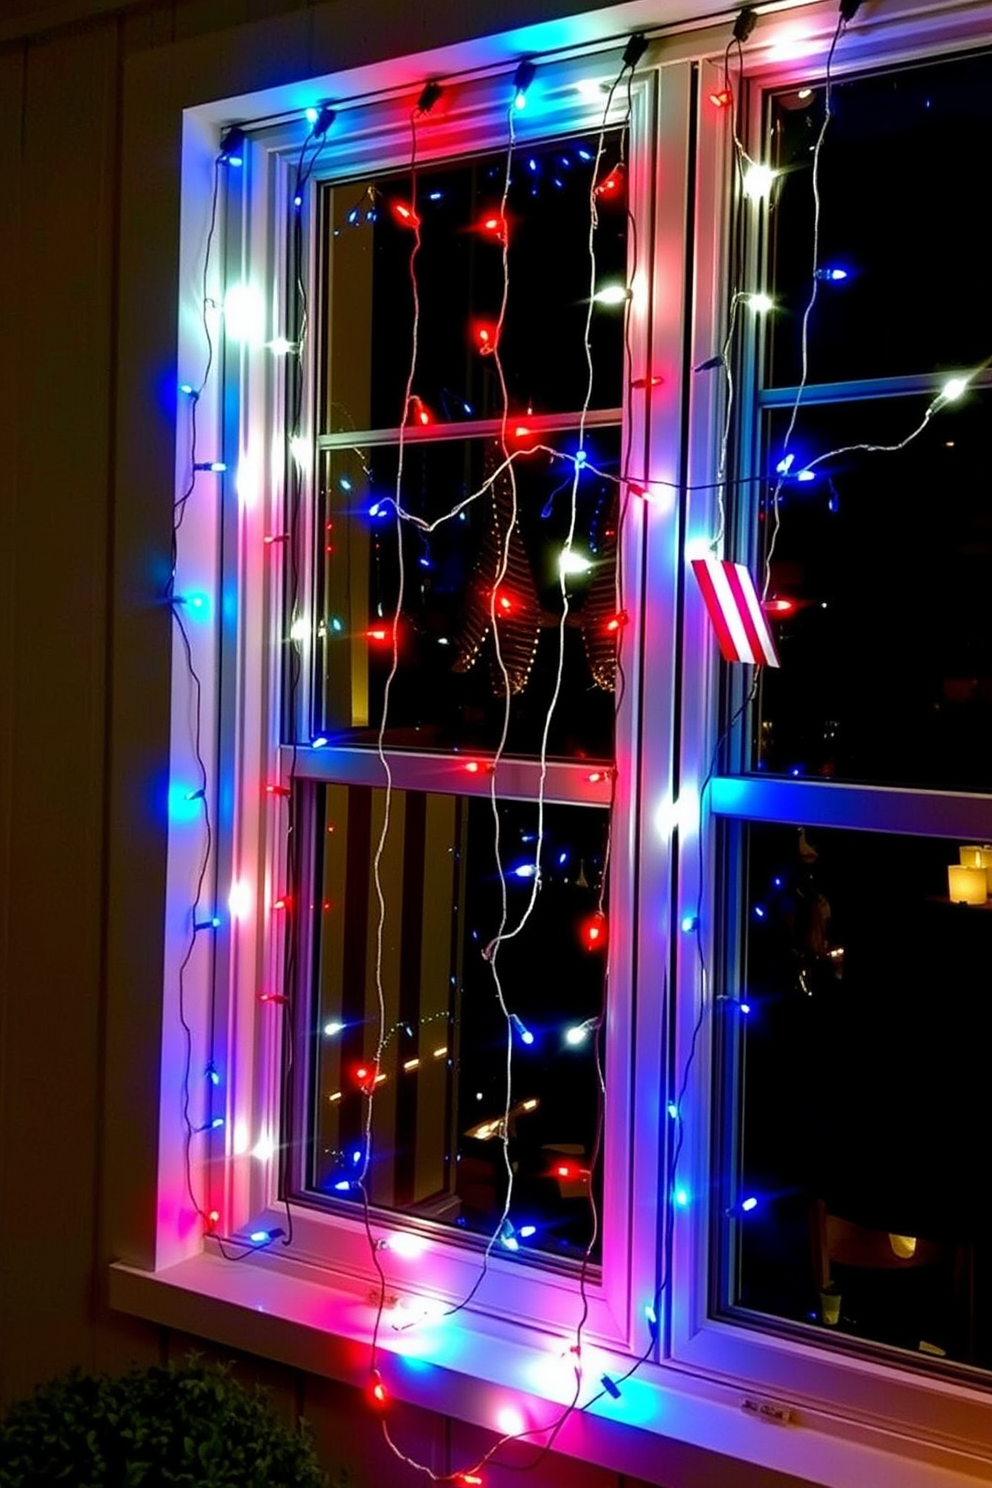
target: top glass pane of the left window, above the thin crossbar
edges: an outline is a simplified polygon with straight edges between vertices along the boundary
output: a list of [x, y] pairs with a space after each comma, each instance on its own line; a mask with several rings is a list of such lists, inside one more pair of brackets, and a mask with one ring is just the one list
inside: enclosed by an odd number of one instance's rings
[[[513, 158], [506, 211], [509, 290], [500, 357], [515, 411], [549, 414], [584, 405], [589, 190], [596, 144], [593, 135], [522, 146]], [[617, 150], [619, 135], [611, 134], [599, 167], [601, 180], [617, 164]], [[413, 332], [412, 208], [421, 219], [419, 335], [412, 393], [436, 421], [501, 415], [503, 394], [491, 348], [503, 301], [504, 179], [506, 150], [498, 150], [474, 161], [419, 168], [415, 204], [409, 173], [327, 187], [327, 432], [396, 429], [403, 421]], [[623, 284], [623, 190], [601, 193], [596, 205], [596, 284]], [[486, 329], [489, 339], [480, 342]], [[623, 315], [616, 307], [593, 308], [590, 342], [595, 368], [590, 406], [617, 408]]]

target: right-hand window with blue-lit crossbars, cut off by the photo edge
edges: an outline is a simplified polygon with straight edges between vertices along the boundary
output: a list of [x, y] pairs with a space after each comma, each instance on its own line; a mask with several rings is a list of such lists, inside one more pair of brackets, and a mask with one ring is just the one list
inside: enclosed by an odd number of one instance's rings
[[958, 865], [989, 830], [992, 324], [967, 183], [991, 82], [970, 52], [834, 77], [828, 119], [819, 77], [763, 92], [773, 310], [741, 525], [782, 665], [714, 795], [735, 926], [723, 1303], [982, 1370], [988, 885]]

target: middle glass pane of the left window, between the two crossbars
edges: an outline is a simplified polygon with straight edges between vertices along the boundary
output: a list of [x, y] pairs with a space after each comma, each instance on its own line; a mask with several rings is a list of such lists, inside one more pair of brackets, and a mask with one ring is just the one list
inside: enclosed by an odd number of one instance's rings
[[[547, 437], [574, 454], [574, 434]], [[501, 463], [495, 440], [406, 446], [402, 501], [410, 518], [431, 522], [482, 494], [433, 533], [416, 521], [403, 522], [405, 591], [388, 745], [492, 751], [509, 686], [506, 747], [512, 754], [538, 754], [561, 656], [549, 753], [611, 757], [619, 432], [590, 433], [586, 454], [589, 467], [576, 487], [573, 554], [587, 567], [567, 579], [562, 646], [559, 559], [573, 519], [574, 461], [538, 451], [515, 463], [512, 479], [507, 470], [494, 475]], [[394, 446], [335, 451], [324, 466], [315, 722], [358, 744], [378, 737], [393, 664], [396, 470]], [[494, 585], [506, 676], [491, 634]]]

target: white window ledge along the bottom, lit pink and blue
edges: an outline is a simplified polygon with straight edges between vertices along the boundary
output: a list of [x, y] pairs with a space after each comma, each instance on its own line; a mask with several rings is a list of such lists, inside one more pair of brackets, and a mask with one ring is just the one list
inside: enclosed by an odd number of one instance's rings
[[[363, 1390], [369, 1378], [366, 1296], [344, 1283], [332, 1287], [326, 1280], [308, 1280], [297, 1274], [302, 1269], [287, 1272], [269, 1257], [232, 1263], [210, 1254], [158, 1272], [116, 1263], [110, 1268], [110, 1305]], [[455, 1317], [403, 1333], [387, 1326], [381, 1350], [391, 1399], [494, 1433], [507, 1409], [525, 1428], [553, 1423], [555, 1402], [571, 1394], [564, 1338], [492, 1318]], [[604, 1372], [619, 1376], [629, 1367], [629, 1360], [595, 1345], [583, 1353], [589, 1390]], [[799, 1397], [799, 1350], [796, 1382]], [[781, 1403], [791, 1408], [791, 1420], [775, 1417]], [[988, 1484], [991, 1470], [988, 1458], [955, 1445], [907, 1442], [794, 1400], [770, 1402], [742, 1385], [654, 1364], [625, 1381], [619, 1400], [604, 1396], [592, 1409], [571, 1415], [555, 1451], [610, 1472], [648, 1481], [660, 1473], [662, 1481], [677, 1482], [666, 1469], [666, 1443], [791, 1473], [825, 1488], [970, 1488]], [[509, 1449], [507, 1461], [522, 1451]]]

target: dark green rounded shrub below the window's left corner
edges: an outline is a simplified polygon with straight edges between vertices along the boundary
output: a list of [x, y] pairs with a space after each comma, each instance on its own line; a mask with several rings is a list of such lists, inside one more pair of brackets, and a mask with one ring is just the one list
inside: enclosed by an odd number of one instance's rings
[[120, 1379], [73, 1370], [0, 1423], [0, 1488], [324, 1488], [259, 1387], [198, 1360]]

